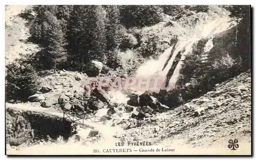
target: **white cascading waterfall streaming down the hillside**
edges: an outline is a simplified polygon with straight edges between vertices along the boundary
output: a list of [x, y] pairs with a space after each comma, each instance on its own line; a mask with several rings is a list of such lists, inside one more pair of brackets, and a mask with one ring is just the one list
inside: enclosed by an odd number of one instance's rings
[[[214, 35], [230, 28], [230, 23], [230, 19], [226, 15], [221, 15], [207, 22], [197, 21], [196, 30], [193, 30], [193, 33], [179, 37], [179, 40], [166, 49], [158, 60], [150, 60], [141, 65], [136, 72], [136, 77], [160, 77], [166, 81], [166, 91], [175, 89], [183, 61], [186, 55], [192, 53], [193, 45], [202, 38], [210, 37], [206, 43], [207, 46], [205, 46], [205, 50], [209, 51], [213, 47], [212, 39]], [[158, 91], [160, 91], [160, 88]]]

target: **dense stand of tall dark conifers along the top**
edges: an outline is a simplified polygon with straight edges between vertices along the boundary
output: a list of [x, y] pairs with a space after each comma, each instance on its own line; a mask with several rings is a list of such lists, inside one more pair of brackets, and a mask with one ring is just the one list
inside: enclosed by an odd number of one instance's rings
[[156, 24], [164, 12], [162, 6], [100, 5], [39, 5], [32, 11], [30, 40], [43, 48], [43, 69], [76, 67], [91, 60], [112, 67], [115, 50], [129, 47], [123, 44], [126, 29]]

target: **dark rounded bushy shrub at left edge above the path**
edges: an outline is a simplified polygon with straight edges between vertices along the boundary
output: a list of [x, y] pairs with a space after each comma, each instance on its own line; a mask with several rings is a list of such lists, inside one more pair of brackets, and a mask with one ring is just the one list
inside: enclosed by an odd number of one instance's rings
[[39, 89], [39, 77], [34, 68], [27, 63], [10, 63], [6, 66], [6, 100], [26, 101]]

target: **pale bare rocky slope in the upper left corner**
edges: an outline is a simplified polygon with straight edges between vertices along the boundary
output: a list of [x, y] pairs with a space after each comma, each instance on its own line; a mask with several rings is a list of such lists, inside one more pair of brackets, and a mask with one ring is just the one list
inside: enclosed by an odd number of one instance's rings
[[24, 18], [20, 16], [28, 5], [10, 5], [5, 7], [5, 63], [13, 62], [23, 55], [31, 55], [40, 50], [38, 45], [27, 42], [29, 31]]

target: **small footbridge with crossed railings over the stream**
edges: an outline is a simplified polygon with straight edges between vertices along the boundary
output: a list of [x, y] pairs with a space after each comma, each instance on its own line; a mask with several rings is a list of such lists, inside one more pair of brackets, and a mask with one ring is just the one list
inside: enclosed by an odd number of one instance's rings
[[91, 121], [94, 123], [100, 123], [104, 125], [106, 124], [106, 118], [95, 116], [93, 114], [84, 113], [81, 111], [63, 112], [63, 119], [72, 121], [72, 123], [80, 122], [82, 124], [85, 124], [86, 121]]

